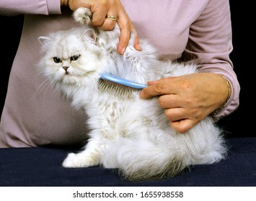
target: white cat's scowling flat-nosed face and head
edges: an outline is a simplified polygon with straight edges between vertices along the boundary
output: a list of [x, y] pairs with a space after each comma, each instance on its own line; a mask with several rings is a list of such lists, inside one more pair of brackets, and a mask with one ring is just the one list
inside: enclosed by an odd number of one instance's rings
[[91, 31], [61, 31], [41, 37], [43, 56], [40, 71], [54, 82], [78, 83], [100, 69], [100, 48], [94, 44]]

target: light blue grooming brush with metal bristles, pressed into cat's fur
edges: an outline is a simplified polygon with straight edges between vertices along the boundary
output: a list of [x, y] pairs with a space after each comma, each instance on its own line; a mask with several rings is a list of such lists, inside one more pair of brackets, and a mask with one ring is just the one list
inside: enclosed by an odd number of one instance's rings
[[135, 83], [131, 80], [125, 80], [115, 75], [103, 73], [100, 77], [99, 88], [109, 93], [121, 95], [126, 98], [132, 98], [133, 92], [146, 88], [148, 85]]

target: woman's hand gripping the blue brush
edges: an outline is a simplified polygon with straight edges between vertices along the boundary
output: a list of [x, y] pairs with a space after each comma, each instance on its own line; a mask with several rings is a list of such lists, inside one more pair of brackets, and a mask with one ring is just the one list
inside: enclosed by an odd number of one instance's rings
[[159, 106], [172, 128], [185, 133], [221, 108], [229, 95], [226, 80], [214, 73], [195, 73], [149, 81], [141, 98], [159, 95]]

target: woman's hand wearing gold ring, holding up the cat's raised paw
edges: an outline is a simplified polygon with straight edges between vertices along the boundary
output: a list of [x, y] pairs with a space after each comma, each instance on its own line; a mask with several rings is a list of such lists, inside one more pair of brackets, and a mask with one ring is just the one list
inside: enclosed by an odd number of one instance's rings
[[[112, 30], [115, 27], [115, 22], [117, 22], [120, 27], [120, 40], [118, 44], [118, 52], [120, 54], [125, 52], [131, 37], [131, 31], [136, 34], [134, 47], [136, 50], [141, 50], [138, 33], [120, 0], [61, 0], [61, 6], [69, 6], [73, 11], [79, 7], [91, 9], [92, 25], [104, 30]], [[115, 17], [116, 21], [107, 19], [107, 15]]]

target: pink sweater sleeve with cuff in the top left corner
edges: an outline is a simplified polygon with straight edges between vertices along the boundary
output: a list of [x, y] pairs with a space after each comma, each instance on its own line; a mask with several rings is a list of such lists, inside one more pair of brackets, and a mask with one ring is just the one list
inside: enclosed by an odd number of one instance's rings
[[60, 0], [0, 0], [0, 14], [61, 14]]

